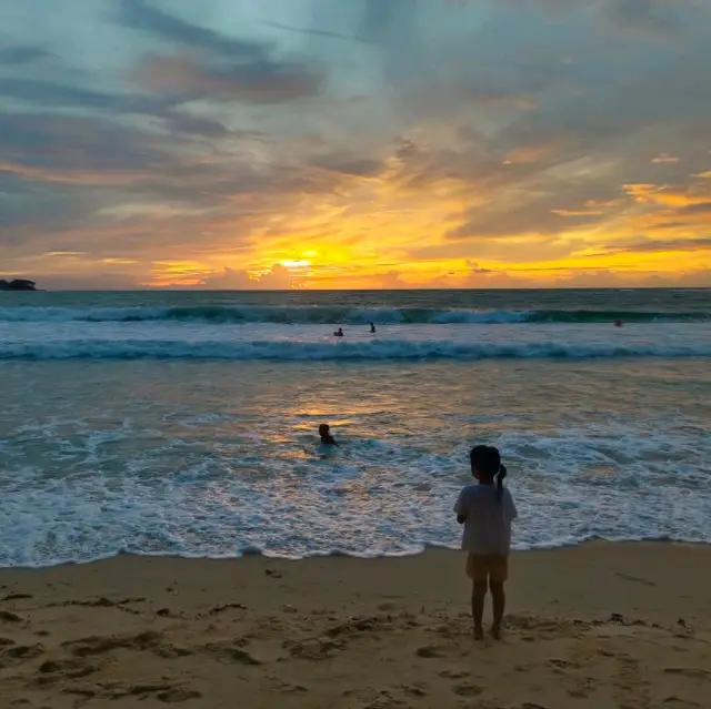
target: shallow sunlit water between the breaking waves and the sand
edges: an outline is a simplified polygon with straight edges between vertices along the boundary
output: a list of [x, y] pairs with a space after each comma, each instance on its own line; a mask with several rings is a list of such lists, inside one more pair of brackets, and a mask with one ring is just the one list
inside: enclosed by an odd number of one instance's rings
[[[638, 365], [375, 366], [364, 377], [334, 363], [319, 369], [316, 398], [300, 394], [311, 391], [307, 371], [268, 363], [8, 365], [3, 566], [120, 551], [297, 558], [455, 547], [451, 507], [479, 440], [499, 445], [509, 466], [517, 548], [711, 541], [707, 419], [685, 388], [671, 411], [653, 369], [630, 388]], [[694, 382], [702, 371], [691, 363], [679, 376]], [[66, 384], [42, 403], [51, 382]], [[477, 401], [492, 404], [472, 408]], [[342, 444], [328, 455], [314, 435], [324, 419]]]

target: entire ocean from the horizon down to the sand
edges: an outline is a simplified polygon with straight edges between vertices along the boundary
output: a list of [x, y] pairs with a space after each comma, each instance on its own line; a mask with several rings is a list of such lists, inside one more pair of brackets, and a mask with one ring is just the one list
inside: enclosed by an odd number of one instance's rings
[[517, 548], [711, 541], [710, 290], [0, 293], [0, 393], [4, 567], [457, 547], [479, 443]]

